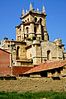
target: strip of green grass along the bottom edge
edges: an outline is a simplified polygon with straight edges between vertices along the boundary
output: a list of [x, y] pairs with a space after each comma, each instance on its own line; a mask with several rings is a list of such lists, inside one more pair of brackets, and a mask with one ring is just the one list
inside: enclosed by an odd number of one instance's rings
[[66, 99], [66, 92], [0, 92], [0, 99]]

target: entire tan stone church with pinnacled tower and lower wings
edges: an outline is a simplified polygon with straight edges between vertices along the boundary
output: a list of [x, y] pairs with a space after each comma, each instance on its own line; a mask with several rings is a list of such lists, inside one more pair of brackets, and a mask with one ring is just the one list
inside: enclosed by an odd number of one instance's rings
[[61, 39], [49, 40], [46, 28], [46, 11], [22, 11], [21, 23], [16, 26], [16, 40], [4, 38], [0, 47], [11, 53], [12, 66], [37, 66], [46, 61], [65, 60], [66, 52]]

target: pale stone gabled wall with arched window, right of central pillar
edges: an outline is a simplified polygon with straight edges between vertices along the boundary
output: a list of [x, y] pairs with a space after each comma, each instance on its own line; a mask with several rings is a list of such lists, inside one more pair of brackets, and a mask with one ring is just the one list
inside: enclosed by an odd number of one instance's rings
[[52, 42], [42, 42], [42, 57], [43, 59], [47, 60], [47, 51], [50, 51], [50, 58], [49, 60], [59, 60], [63, 59], [63, 52], [58, 46], [56, 46]]

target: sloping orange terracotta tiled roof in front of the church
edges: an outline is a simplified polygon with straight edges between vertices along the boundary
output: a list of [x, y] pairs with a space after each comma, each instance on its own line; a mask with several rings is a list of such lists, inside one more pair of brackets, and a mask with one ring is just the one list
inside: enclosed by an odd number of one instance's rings
[[35, 73], [35, 72], [51, 70], [51, 69], [63, 67], [65, 65], [66, 65], [66, 60], [45, 62], [45, 63], [40, 64], [39, 66], [33, 67], [32, 69], [25, 72], [24, 74], [30, 74], [30, 73]]

